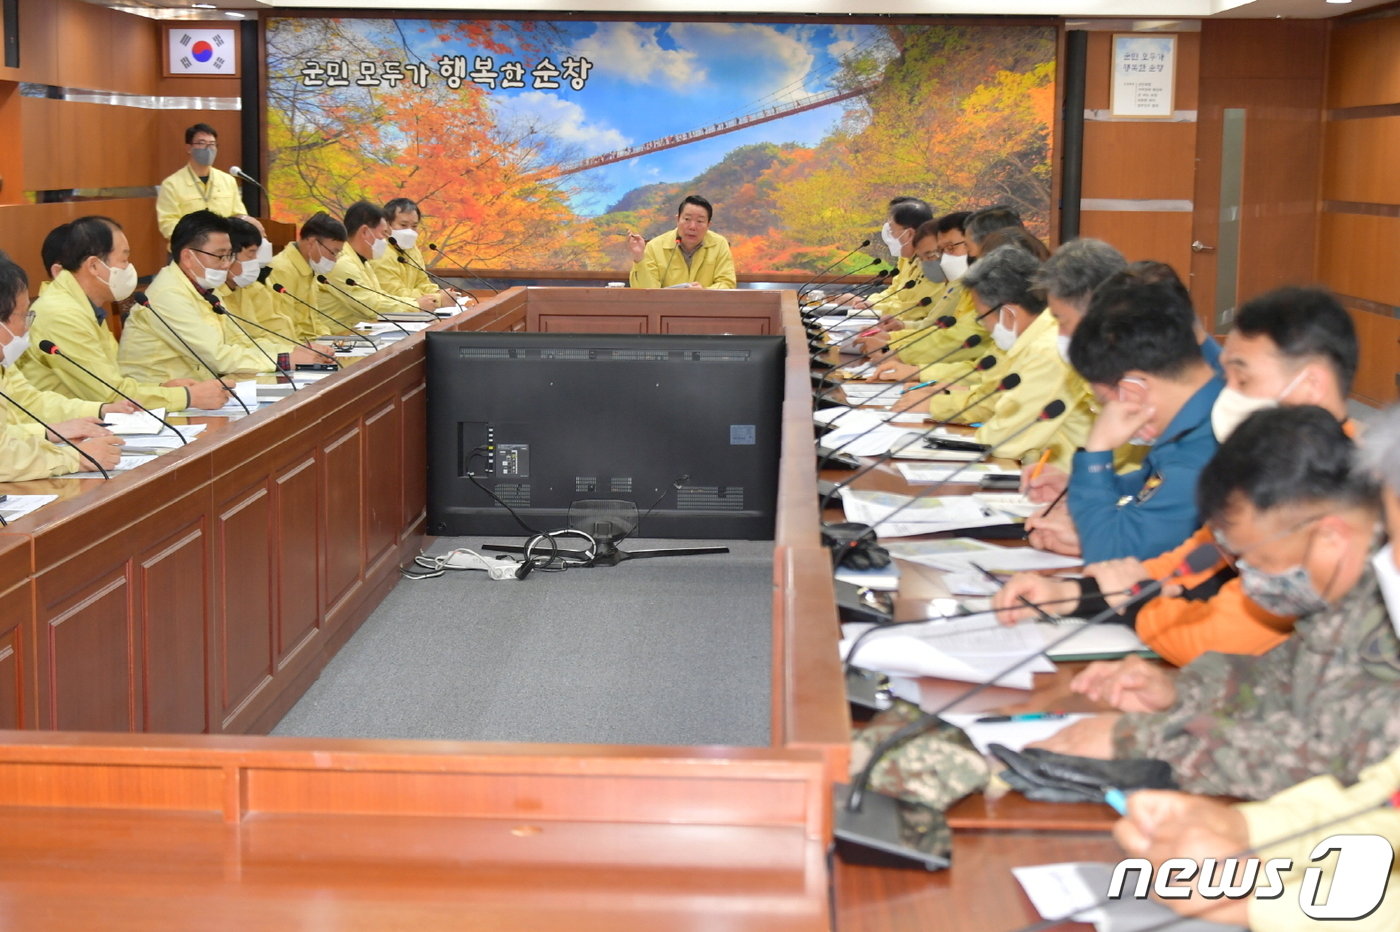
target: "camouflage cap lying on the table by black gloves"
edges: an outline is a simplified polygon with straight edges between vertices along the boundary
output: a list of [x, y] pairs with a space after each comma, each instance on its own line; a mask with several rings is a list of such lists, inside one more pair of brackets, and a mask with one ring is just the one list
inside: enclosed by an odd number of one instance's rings
[[[855, 730], [851, 746], [851, 774], [858, 774], [876, 744], [920, 718], [917, 705], [896, 700], [895, 704]], [[871, 788], [923, 803], [939, 812], [987, 785], [990, 768], [967, 735], [948, 722], [938, 722], [923, 735], [911, 737], [875, 765]]]

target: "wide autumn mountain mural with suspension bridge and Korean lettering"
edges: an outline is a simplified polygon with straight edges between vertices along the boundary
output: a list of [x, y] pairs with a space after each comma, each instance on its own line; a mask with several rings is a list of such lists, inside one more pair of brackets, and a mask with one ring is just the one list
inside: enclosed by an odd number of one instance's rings
[[1046, 228], [1051, 27], [266, 25], [279, 220], [410, 197], [454, 257], [613, 270], [701, 193], [745, 273], [825, 267], [895, 195]]

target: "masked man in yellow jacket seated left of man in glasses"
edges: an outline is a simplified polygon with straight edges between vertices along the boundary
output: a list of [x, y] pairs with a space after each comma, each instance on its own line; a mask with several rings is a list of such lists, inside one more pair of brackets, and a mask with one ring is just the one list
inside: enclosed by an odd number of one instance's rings
[[[122, 372], [104, 305], [129, 298], [136, 291], [137, 273], [126, 234], [115, 220], [78, 217], [50, 231], [45, 245], [46, 252], [53, 249], [45, 263], [59, 266], [59, 271], [34, 302], [35, 348], [20, 360], [20, 368], [35, 388], [116, 403], [120, 396], [108, 388], [115, 385], [147, 407], [172, 411], [224, 406], [228, 393], [223, 382], [204, 371], [176, 379], [133, 379]], [[42, 340], [55, 343], [64, 355], [81, 362], [81, 368], [39, 353]]]

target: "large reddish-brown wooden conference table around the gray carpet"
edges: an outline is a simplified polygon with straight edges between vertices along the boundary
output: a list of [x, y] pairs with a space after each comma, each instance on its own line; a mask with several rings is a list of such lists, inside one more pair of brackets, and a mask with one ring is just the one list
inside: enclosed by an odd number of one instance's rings
[[[512, 288], [434, 327], [805, 346], [791, 291]], [[60, 495], [0, 529], [6, 926], [825, 929], [833, 880], [840, 928], [1033, 918], [991, 865], [1112, 856], [1068, 813], [973, 806], [962, 869], [827, 873], [848, 716], [808, 389], [794, 351], [769, 747], [262, 736], [423, 546], [420, 334], [111, 481], [0, 486]]]

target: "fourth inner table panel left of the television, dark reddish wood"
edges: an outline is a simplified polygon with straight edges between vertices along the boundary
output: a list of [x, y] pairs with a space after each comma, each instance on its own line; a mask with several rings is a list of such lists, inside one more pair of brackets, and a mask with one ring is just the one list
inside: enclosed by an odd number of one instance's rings
[[277, 591], [274, 662], [279, 670], [321, 630], [321, 470], [304, 455], [273, 476]]

